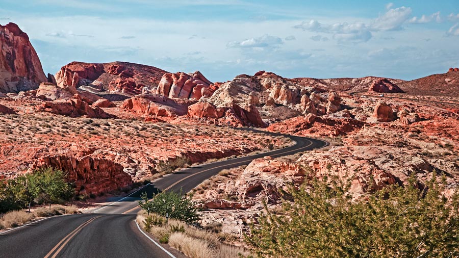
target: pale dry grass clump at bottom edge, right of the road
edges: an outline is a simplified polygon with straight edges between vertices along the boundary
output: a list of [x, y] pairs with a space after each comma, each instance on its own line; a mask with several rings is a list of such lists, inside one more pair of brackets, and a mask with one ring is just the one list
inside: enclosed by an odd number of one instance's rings
[[183, 233], [170, 235], [169, 245], [191, 258], [208, 258], [218, 255], [205, 241], [189, 237]]

